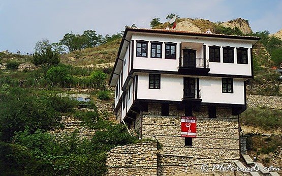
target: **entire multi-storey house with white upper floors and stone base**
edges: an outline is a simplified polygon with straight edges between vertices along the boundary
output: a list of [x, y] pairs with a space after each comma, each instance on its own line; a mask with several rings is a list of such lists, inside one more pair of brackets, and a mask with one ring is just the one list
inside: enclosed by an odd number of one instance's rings
[[201, 164], [240, 159], [238, 115], [246, 109], [245, 82], [254, 77], [252, 47], [259, 39], [126, 29], [109, 81], [116, 118], [161, 143], [158, 175], [207, 175], [216, 172], [204, 173]]

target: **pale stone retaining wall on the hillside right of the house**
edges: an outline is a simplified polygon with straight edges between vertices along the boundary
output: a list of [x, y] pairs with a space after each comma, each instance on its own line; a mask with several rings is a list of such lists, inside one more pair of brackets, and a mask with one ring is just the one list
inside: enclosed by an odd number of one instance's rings
[[282, 96], [247, 95], [247, 107], [282, 110]]

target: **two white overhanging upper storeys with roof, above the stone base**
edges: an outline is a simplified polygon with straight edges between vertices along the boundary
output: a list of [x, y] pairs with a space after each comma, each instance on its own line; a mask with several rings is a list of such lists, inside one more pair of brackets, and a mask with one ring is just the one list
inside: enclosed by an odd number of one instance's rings
[[[119, 119], [140, 102], [246, 107], [257, 37], [127, 28], [109, 85], [116, 87]], [[139, 111], [138, 111], [139, 112]], [[134, 118], [134, 117], [133, 117]]]

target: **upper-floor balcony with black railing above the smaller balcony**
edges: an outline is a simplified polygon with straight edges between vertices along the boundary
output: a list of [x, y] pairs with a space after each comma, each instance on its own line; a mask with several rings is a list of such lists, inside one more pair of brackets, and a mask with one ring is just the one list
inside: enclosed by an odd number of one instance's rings
[[178, 72], [186, 74], [207, 74], [210, 71], [208, 59], [180, 57]]

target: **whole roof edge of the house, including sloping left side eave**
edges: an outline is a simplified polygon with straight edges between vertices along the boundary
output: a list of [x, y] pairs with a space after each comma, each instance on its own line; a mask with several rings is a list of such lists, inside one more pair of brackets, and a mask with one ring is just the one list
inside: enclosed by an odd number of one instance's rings
[[118, 62], [118, 58], [120, 56], [124, 41], [126, 40], [127, 33], [128, 32], [144, 32], [144, 33], [160, 33], [160, 34], [174, 34], [174, 35], [180, 35], [180, 36], [196, 36], [196, 37], [210, 37], [210, 38], [224, 38], [224, 39], [239, 39], [239, 40], [252, 40], [253, 43], [256, 43], [256, 41], [259, 41], [261, 38], [259, 37], [253, 37], [253, 36], [232, 36], [227, 34], [218, 34], [218, 33], [205, 33], [205, 32], [192, 32], [192, 31], [186, 31], [186, 30], [170, 30], [170, 29], [146, 29], [146, 28], [136, 28], [136, 27], [127, 27], [124, 31], [122, 41], [120, 43], [118, 53], [117, 53], [117, 59], [115, 60], [114, 68], [109, 80], [109, 85], [112, 81], [114, 71]]

